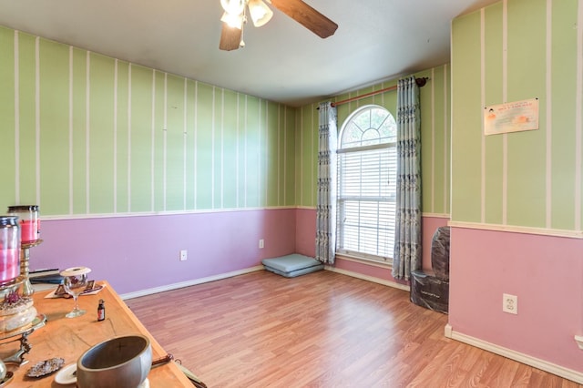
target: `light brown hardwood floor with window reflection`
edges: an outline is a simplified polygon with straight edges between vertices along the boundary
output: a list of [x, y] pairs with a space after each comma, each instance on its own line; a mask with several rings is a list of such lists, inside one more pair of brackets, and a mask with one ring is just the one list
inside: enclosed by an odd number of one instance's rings
[[127, 303], [209, 388], [581, 387], [445, 338], [447, 315], [407, 291], [331, 271], [258, 271]]

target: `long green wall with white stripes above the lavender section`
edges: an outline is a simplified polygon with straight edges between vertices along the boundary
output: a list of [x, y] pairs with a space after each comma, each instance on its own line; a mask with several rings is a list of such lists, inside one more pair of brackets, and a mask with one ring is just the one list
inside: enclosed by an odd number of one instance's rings
[[0, 27], [0, 209], [294, 206], [295, 108]]

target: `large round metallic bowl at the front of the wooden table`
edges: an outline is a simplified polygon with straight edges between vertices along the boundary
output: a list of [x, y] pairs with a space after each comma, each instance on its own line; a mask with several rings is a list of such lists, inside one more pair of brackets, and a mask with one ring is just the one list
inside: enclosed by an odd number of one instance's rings
[[148, 337], [129, 335], [97, 343], [77, 360], [77, 387], [138, 387], [152, 366]]

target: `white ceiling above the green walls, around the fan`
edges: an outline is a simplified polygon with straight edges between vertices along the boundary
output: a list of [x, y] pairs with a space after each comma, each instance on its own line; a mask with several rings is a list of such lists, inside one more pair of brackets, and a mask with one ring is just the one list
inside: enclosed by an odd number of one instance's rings
[[0, 25], [297, 107], [448, 63], [451, 20], [498, 0], [305, 1], [333, 36], [274, 10], [230, 52], [220, 0], [0, 0]]

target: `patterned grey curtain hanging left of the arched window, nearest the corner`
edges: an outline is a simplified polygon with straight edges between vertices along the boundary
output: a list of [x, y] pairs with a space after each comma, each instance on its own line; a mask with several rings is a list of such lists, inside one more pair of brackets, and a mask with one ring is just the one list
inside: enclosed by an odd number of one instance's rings
[[336, 250], [336, 108], [320, 104], [318, 151], [318, 199], [316, 203], [316, 260], [334, 263]]

